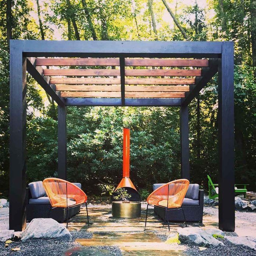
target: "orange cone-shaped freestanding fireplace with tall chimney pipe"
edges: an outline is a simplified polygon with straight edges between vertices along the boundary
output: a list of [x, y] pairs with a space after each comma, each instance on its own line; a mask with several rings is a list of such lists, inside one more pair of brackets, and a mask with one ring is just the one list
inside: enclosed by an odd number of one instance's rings
[[141, 201], [141, 197], [130, 179], [130, 129], [125, 127], [123, 142], [123, 177], [112, 195], [112, 201], [120, 200], [113, 198], [113, 196], [118, 195], [117, 189], [119, 188], [125, 188], [128, 194], [131, 195], [131, 198], [127, 198], [128, 200]]

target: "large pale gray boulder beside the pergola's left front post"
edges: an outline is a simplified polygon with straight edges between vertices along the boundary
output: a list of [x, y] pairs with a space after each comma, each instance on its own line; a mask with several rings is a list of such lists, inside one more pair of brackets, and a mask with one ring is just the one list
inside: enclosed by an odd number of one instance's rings
[[26, 241], [29, 238], [71, 239], [71, 234], [63, 224], [52, 218], [35, 218], [21, 233], [22, 241]]

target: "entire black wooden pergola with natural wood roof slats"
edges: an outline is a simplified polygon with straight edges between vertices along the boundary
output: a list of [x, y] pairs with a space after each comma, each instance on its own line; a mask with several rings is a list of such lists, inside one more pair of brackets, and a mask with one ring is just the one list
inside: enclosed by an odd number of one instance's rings
[[218, 72], [219, 228], [235, 230], [232, 42], [11, 40], [10, 229], [15, 231], [26, 226], [26, 71], [58, 104], [63, 179], [67, 106], [179, 107], [182, 178], [189, 179], [188, 105]]

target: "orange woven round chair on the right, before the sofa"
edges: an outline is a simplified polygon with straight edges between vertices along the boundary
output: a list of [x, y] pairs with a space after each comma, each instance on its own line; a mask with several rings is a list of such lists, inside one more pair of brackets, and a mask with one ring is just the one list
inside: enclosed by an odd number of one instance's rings
[[[164, 207], [166, 209], [166, 216], [167, 216], [167, 224], [168, 229], [170, 231], [169, 221], [168, 221], [168, 210], [181, 208], [182, 209], [182, 202], [188, 190], [189, 181], [187, 179], [177, 179], [175, 181], [168, 182], [163, 186], [160, 186], [155, 191], [153, 191], [147, 198], [147, 210], [149, 205]], [[182, 209], [182, 213], [184, 216], [184, 221], [186, 224], [186, 218], [184, 215], [184, 211]], [[164, 220], [166, 223], [166, 220]], [[145, 228], [147, 224], [147, 212], [146, 212], [146, 221], [145, 221]], [[187, 224], [186, 224], [187, 227]]]

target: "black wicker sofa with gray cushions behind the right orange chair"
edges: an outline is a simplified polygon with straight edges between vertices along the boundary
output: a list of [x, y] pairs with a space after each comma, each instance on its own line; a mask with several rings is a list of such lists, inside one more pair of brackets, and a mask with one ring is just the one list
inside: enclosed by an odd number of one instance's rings
[[[164, 184], [154, 184], [153, 190]], [[203, 222], [203, 190], [199, 189], [198, 184], [189, 184], [184, 201], [182, 203], [187, 222]], [[162, 219], [168, 221], [184, 221], [181, 208], [166, 211], [163, 207], [154, 206], [154, 212]]]

